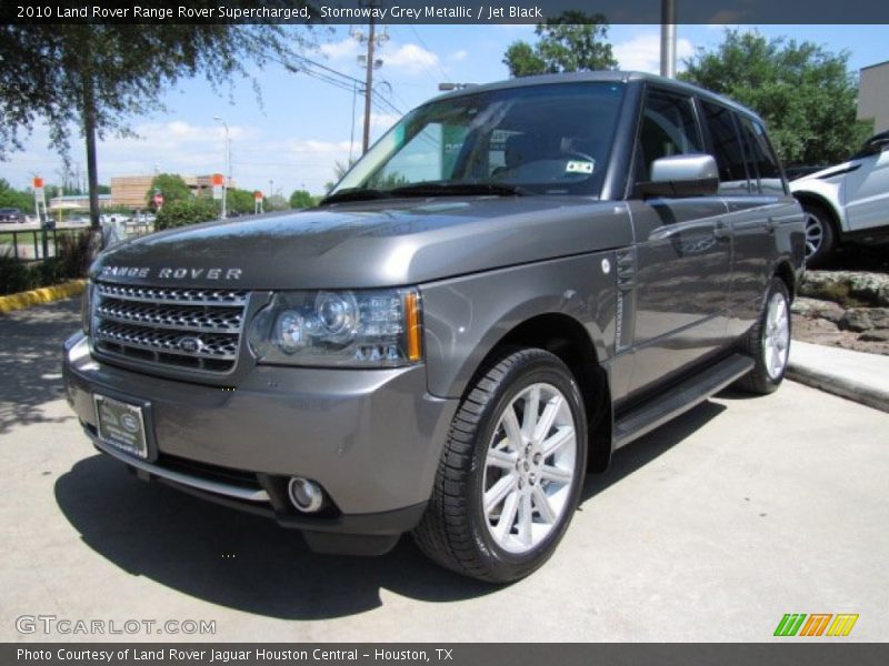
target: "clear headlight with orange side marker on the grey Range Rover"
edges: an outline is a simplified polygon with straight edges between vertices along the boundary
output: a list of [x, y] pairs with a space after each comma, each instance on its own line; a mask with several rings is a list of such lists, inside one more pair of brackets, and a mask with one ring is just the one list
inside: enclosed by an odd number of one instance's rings
[[260, 363], [391, 367], [422, 360], [416, 290], [278, 292], [250, 323]]

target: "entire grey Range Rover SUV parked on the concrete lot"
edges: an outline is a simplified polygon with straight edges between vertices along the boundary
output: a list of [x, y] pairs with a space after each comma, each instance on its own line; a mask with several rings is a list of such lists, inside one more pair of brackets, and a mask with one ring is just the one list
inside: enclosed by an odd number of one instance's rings
[[725, 98], [625, 72], [471, 87], [314, 209], [101, 254], [67, 396], [139, 477], [313, 551], [410, 532], [515, 581], [615, 450], [778, 387], [805, 241], [761, 120]]

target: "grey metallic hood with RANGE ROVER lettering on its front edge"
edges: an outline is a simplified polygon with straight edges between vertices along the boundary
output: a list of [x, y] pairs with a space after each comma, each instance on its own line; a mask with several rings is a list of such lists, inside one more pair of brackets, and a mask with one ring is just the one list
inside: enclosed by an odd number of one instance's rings
[[150, 234], [102, 253], [90, 275], [191, 287], [399, 286], [631, 241], [623, 203], [577, 196], [383, 200]]

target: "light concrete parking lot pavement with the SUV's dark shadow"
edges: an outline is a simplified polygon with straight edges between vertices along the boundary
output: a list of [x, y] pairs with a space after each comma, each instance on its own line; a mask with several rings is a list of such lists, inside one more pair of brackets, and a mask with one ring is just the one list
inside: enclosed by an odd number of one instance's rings
[[[72, 301], [0, 317], [0, 640], [760, 642], [786, 613], [859, 614], [848, 640], [889, 639], [883, 412], [790, 382], [725, 393], [618, 452], [553, 558], [491, 587], [409, 538], [381, 558], [316, 556], [126, 474], [62, 398], [77, 325]], [[22, 615], [216, 635], [21, 634]]]

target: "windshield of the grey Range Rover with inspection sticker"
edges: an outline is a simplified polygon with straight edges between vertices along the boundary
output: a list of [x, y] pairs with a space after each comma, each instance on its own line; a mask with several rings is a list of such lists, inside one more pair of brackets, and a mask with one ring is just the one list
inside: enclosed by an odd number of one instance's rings
[[[430, 193], [598, 195], [623, 84], [580, 82], [489, 90], [408, 113], [331, 196]], [[411, 188], [418, 183], [432, 188]], [[487, 189], [487, 190], [486, 190]]]

